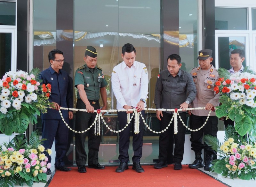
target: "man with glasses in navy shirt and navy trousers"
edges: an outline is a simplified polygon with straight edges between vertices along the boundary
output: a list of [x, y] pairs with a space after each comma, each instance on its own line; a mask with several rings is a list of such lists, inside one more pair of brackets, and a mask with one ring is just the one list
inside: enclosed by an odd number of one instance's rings
[[[63, 52], [54, 49], [48, 55], [51, 66], [40, 73], [40, 79], [43, 79], [42, 84], [51, 84], [52, 90], [49, 101], [52, 102], [52, 109], [48, 109], [47, 113], [41, 115], [42, 118], [42, 138], [46, 138], [43, 142], [45, 149], [51, 149], [55, 138], [55, 169], [60, 171], [70, 171], [71, 168], [66, 168], [63, 158], [66, 154], [68, 128], [62, 121], [59, 114], [59, 108], [72, 108], [73, 94], [69, 76], [66, 71], [61, 70], [64, 57]], [[61, 110], [62, 116], [66, 123], [73, 118], [73, 112]], [[48, 156], [48, 153], [45, 153]], [[51, 163], [51, 156], [48, 156], [48, 162]], [[46, 171], [47, 175], [52, 174], [50, 169]]]

